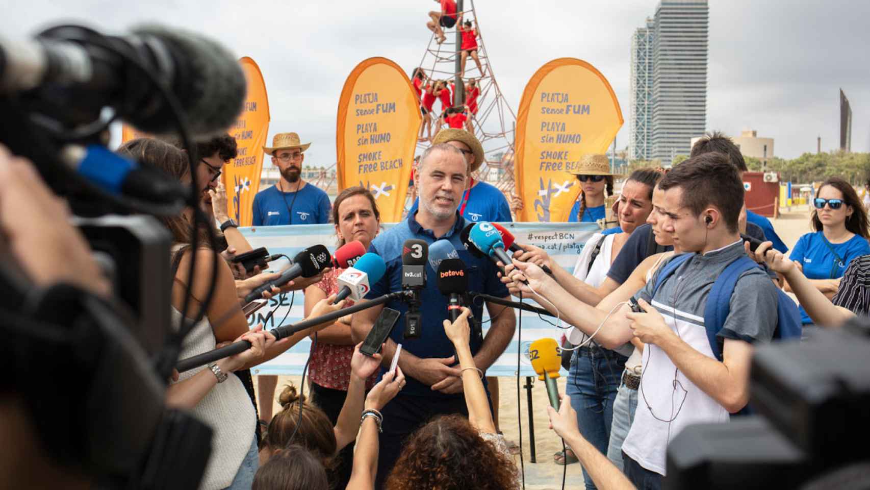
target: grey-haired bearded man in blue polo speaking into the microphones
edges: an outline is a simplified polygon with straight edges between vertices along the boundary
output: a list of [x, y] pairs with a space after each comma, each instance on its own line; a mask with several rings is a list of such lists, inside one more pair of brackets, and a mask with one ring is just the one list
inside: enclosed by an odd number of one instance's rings
[[[469, 291], [508, 298], [507, 288], [499, 280], [492, 261], [473, 257], [465, 250], [460, 239], [465, 219], [459, 216], [457, 208], [465, 191], [468, 168], [463, 153], [451, 144], [435, 144], [423, 153], [414, 174], [420, 208], [372, 241], [369, 252], [385, 259], [386, 272], [382, 279], [371, 285], [367, 299], [401, 290], [402, 245], [409, 238], [423, 239], [430, 244], [438, 239], [449, 240], [459, 258], [465, 262]], [[456, 359], [453, 359], [452, 343], [444, 332], [443, 321], [448, 318], [447, 299], [438, 292], [436, 271], [432, 270], [431, 265], [425, 267], [427, 280], [420, 294], [421, 335], [416, 339], [405, 339], [405, 322], [399, 321], [384, 347], [383, 363], [386, 368], [390, 366], [396, 345], [402, 344], [398, 366], [405, 373], [408, 384], [383, 410], [384, 432], [379, 440], [378, 488], [398, 459], [407, 436], [432, 416], [468, 413], [461, 373], [456, 367]], [[401, 312], [400, 319], [404, 319], [408, 311], [408, 305], [400, 301], [391, 301], [385, 306]], [[471, 307], [476, 319], [483, 318], [482, 305], [476, 303]], [[378, 305], [353, 315], [351, 332], [354, 341], [365, 339], [382, 310], [383, 306]], [[512, 309], [487, 303], [486, 310], [492, 318], [489, 332], [482, 341], [474, 336], [471, 340], [475, 364], [484, 371], [505, 351], [513, 337], [515, 325]]]

